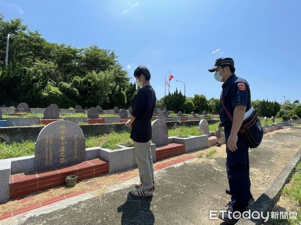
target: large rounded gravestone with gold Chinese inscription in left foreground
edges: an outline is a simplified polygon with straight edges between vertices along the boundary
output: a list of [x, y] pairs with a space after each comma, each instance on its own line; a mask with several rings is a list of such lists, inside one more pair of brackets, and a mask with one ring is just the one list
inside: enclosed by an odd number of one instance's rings
[[84, 160], [86, 140], [82, 129], [75, 122], [55, 121], [39, 133], [35, 143], [35, 169]]

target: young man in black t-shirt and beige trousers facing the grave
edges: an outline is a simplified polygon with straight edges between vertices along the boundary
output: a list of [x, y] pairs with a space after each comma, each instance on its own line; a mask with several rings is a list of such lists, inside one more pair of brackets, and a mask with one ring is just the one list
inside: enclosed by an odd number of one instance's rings
[[130, 119], [126, 126], [131, 127], [130, 138], [134, 141], [135, 156], [138, 164], [140, 184], [131, 191], [135, 196], [152, 196], [155, 188], [154, 167], [152, 152], [150, 151], [150, 139], [152, 139], [152, 125], [150, 119], [153, 116], [156, 93], [150, 85], [150, 72], [143, 66], [138, 66], [134, 71], [136, 83], [142, 88], [138, 91]]

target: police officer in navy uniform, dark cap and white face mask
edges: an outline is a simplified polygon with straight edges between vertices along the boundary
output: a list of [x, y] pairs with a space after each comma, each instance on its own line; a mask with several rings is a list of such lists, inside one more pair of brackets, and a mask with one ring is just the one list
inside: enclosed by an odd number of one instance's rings
[[226, 168], [229, 188], [226, 192], [231, 194], [231, 201], [226, 212], [220, 213], [219, 218], [228, 222], [236, 223], [235, 217], [246, 210], [249, 199], [251, 182], [249, 174], [248, 145], [238, 132], [242, 124], [245, 112], [251, 107], [251, 93], [248, 82], [235, 75], [234, 60], [229, 57], [218, 58], [212, 68], [214, 78], [223, 82], [220, 96], [220, 123], [216, 129], [216, 137], [221, 138], [224, 127], [226, 137]]

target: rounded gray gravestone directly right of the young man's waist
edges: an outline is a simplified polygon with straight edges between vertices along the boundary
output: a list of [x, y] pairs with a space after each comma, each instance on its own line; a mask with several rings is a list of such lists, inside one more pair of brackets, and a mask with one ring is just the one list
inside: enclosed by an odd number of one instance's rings
[[162, 119], [156, 119], [152, 122], [152, 143], [157, 146], [169, 144], [168, 129]]

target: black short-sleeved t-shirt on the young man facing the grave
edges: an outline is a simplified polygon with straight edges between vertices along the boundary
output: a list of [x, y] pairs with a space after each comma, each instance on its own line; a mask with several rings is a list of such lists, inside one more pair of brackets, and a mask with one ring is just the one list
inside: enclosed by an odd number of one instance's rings
[[131, 111], [131, 114], [136, 117], [130, 132], [130, 138], [134, 141], [147, 142], [152, 139], [150, 119], [153, 116], [155, 104], [156, 93], [153, 87], [142, 87], [134, 99]]

